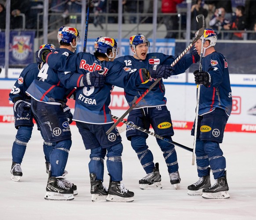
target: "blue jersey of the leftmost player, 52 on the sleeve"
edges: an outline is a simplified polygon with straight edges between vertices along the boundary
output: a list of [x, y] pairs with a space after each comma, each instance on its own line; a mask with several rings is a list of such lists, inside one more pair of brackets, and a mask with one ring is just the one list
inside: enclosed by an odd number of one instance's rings
[[15, 82], [14, 86], [11, 89], [9, 94], [9, 99], [12, 102], [22, 99], [26, 102], [31, 102], [31, 97], [26, 94], [26, 90], [33, 82], [34, 79], [37, 79], [39, 73], [39, 66], [37, 63], [31, 63], [27, 65], [21, 72], [19, 78]]

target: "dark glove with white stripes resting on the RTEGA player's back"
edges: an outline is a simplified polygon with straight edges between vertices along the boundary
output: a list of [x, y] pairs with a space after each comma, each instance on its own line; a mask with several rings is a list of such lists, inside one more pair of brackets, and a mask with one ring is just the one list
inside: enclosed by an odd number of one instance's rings
[[83, 77], [83, 83], [85, 87], [100, 88], [104, 86], [105, 77], [101, 74], [102, 70], [87, 72]]

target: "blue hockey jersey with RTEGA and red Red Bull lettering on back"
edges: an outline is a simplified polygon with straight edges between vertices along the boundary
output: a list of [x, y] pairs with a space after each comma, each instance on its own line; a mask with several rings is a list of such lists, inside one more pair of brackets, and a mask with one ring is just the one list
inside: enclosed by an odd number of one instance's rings
[[[144, 82], [137, 69], [125, 67], [118, 62], [99, 61], [89, 53], [71, 56], [50, 53], [46, 59], [51, 68], [63, 71], [59, 79], [65, 87], [77, 87], [74, 121], [92, 124], [113, 123], [109, 105], [114, 85], [135, 88]], [[103, 70], [104, 86], [101, 88], [79, 87], [80, 76], [96, 70]]]

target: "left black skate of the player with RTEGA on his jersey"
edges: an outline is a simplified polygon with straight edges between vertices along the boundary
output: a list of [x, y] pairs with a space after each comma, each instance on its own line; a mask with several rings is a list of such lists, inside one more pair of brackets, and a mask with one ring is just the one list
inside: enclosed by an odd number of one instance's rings
[[108, 195], [106, 187], [102, 184], [101, 180], [96, 180], [96, 175], [90, 173], [91, 180], [91, 201], [92, 202], [106, 202]]

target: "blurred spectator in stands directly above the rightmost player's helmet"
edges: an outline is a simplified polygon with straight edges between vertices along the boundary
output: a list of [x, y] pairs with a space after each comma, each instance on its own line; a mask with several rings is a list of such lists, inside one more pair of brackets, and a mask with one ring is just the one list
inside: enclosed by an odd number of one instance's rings
[[[218, 36], [222, 38], [222, 36], [219, 34], [221, 30], [230, 30], [230, 20], [227, 20], [225, 18], [226, 11], [223, 7], [216, 8], [215, 13], [212, 16], [212, 19], [209, 22], [209, 25], [211, 26], [212, 29], [216, 31]], [[230, 33], [224, 33], [223, 38], [224, 39], [230, 39]]]

